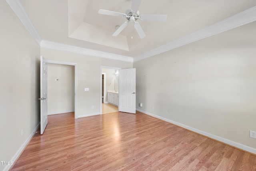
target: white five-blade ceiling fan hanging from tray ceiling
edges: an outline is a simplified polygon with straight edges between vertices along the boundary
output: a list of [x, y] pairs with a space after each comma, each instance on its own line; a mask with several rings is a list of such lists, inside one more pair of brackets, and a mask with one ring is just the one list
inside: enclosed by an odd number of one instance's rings
[[124, 22], [117, 30], [114, 32], [112, 36], [118, 36], [124, 28], [132, 22], [134, 25], [135, 30], [137, 31], [140, 38], [146, 37], [144, 31], [142, 30], [140, 24], [136, 22], [136, 20], [143, 20], [143, 21], [166, 21], [167, 15], [155, 15], [155, 14], [142, 14], [140, 15], [138, 8], [140, 6], [141, 0], [132, 0], [132, 7], [126, 10], [126, 13], [108, 11], [108, 10], [99, 10], [99, 14], [110, 15], [110, 16], [118, 16], [118, 17], [125, 17], [128, 21]]

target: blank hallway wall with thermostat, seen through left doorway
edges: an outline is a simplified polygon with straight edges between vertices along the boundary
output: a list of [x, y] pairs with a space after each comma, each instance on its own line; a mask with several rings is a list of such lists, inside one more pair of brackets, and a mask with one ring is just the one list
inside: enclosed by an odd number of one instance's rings
[[48, 115], [74, 111], [74, 75], [74, 66], [48, 64]]

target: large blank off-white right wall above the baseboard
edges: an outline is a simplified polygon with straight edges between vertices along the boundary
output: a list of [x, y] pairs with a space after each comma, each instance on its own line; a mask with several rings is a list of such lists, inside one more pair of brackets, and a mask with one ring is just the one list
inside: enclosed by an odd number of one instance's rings
[[137, 108], [255, 153], [255, 30], [253, 22], [135, 62]]

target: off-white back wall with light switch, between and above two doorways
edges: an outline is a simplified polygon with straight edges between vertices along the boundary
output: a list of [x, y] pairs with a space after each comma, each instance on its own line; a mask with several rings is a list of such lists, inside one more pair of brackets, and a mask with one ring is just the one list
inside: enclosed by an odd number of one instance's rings
[[[78, 117], [100, 114], [100, 101], [102, 99], [100, 91], [102, 73], [100, 66], [122, 69], [132, 68], [132, 62], [109, 60], [45, 48], [41, 48], [41, 55], [44, 56], [46, 60], [78, 64]], [[84, 91], [84, 88], [89, 88], [90, 91]], [[94, 109], [92, 109], [92, 105], [94, 105]]]

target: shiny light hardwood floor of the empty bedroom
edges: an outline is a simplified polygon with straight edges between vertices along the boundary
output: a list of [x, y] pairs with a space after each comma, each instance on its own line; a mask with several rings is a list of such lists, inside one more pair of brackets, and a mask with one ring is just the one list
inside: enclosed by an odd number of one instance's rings
[[50, 115], [12, 171], [255, 171], [256, 155], [137, 111]]

